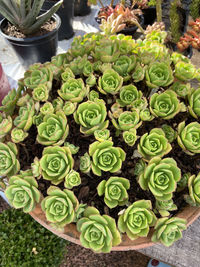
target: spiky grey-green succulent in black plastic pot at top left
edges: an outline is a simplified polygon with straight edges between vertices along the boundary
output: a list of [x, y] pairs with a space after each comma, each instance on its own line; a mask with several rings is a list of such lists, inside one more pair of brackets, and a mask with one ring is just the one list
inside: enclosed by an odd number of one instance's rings
[[5, 17], [0, 33], [25, 68], [36, 62], [44, 63], [56, 54], [60, 19], [54, 13], [62, 2], [42, 12], [44, 0], [0, 0], [0, 12]]

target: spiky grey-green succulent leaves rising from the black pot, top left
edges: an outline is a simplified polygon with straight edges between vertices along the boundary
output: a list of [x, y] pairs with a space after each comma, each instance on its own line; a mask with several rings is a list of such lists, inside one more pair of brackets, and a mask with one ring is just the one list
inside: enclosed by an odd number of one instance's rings
[[55, 3], [52, 8], [41, 13], [41, 8], [44, 3], [43, 0], [12, 0], [7, 2], [0, 1], [1, 14], [14, 26], [16, 26], [24, 34], [32, 34], [40, 29], [40, 27], [47, 22], [52, 15], [59, 9], [62, 0]]

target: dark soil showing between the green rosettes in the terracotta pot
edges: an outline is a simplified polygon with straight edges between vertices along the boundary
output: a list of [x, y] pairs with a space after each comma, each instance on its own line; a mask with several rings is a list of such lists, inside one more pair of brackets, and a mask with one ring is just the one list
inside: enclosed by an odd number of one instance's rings
[[[97, 75], [98, 76], [98, 75]], [[83, 77], [82, 77], [83, 78]], [[131, 81], [129, 81], [131, 83]], [[126, 85], [127, 83], [124, 83]], [[56, 98], [57, 90], [60, 88], [59, 82], [53, 83], [53, 89], [51, 91], [51, 98]], [[146, 85], [143, 82], [139, 82], [136, 84], [137, 88], [143, 92], [143, 95], [149, 98], [149, 91]], [[92, 88], [95, 89], [95, 88]], [[166, 90], [167, 88], [165, 88]], [[164, 91], [164, 89], [160, 89], [160, 91]], [[112, 97], [112, 96], [111, 96]], [[110, 107], [113, 103], [116, 102], [116, 96], [111, 98], [110, 96], [105, 96], [100, 94], [100, 98], [102, 98], [107, 103], [107, 110], [110, 110]], [[112, 100], [112, 103], [110, 103]], [[87, 99], [84, 99], [87, 101]], [[73, 115], [67, 117], [69, 124], [69, 135], [66, 138], [66, 141], [74, 144], [75, 146], [79, 146], [80, 149], [77, 154], [73, 155], [74, 158], [74, 170], [80, 172], [79, 163], [80, 156], [83, 156], [84, 153], [88, 152], [89, 145], [95, 141], [94, 136], [84, 136], [80, 133], [80, 125], [77, 125], [73, 119]], [[137, 129], [137, 135], [142, 136], [143, 134], [150, 132], [153, 128], [161, 127], [163, 124], [168, 124], [172, 128], [177, 129], [177, 126], [180, 122], [186, 121], [186, 124], [196, 121], [193, 117], [191, 117], [188, 113], [182, 112], [177, 114], [173, 119], [170, 120], [162, 120], [160, 118], [155, 118], [151, 122], [143, 122], [143, 124]], [[199, 121], [199, 120], [198, 120]], [[200, 121], [199, 121], [200, 122]], [[148, 190], [143, 191], [136, 179], [136, 176], [133, 174], [134, 167], [140, 158], [133, 157], [134, 151], [137, 149], [137, 145], [139, 143], [139, 139], [133, 147], [129, 147], [125, 144], [122, 139], [122, 136], [116, 136], [115, 127], [112, 125], [110, 121], [108, 129], [110, 130], [112, 140], [114, 142], [115, 147], [121, 147], [126, 152], [126, 160], [122, 163], [122, 168], [118, 173], [110, 173], [102, 171], [102, 175], [96, 176], [91, 171], [89, 174], [84, 174], [80, 172], [82, 183], [78, 187], [74, 187], [72, 190], [75, 193], [80, 203], [86, 203], [88, 205], [95, 206], [101, 214], [108, 214], [117, 220], [118, 213], [125, 209], [126, 206], [120, 206], [113, 209], [108, 208], [103, 200], [103, 197], [99, 197], [97, 194], [97, 186], [103, 180], [107, 180], [111, 176], [120, 176], [129, 179], [130, 181], [130, 189], [128, 190], [129, 201], [133, 203], [136, 200], [140, 199], [149, 199], [152, 201], [153, 208], [155, 208], [155, 198], [152, 193]], [[35, 157], [40, 159], [42, 157], [42, 151], [44, 146], [38, 144], [36, 141], [37, 136], [37, 128], [35, 125], [31, 127], [29, 130], [29, 135], [25, 139], [22, 144], [18, 145], [19, 149], [19, 161], [22, 170], [27, 170], [31, 167], [31, 163], [34, 161]], [[178, 167], [181, 169], [182, 174], [191, 172], [192, 174], [197, 174], [200, 171], [200, 157], [199, 155], [189, 156], [182, 151], [179, 147], [177, 141], [175, 140], [172, 144], [172, 150], [165, 157], [172, 157], [176, 160]], [[43, 178], [38, 180], [39, 190], [43, 194], [43, 196], [47, 196], [47, 189], [51, 185], [50, 181], [46, 181]], [[64, 182], [58, 185], [59, 188], [64, 189]], [[186, 191], [182, 191], [180, 193], [174, 194], [174, 202], [178, 207], [178, 211], [183, 209], [186, 206], [184, 201], [184, 194]], [[177, 211], [171, 212], [171, 214], [176, 214]]]

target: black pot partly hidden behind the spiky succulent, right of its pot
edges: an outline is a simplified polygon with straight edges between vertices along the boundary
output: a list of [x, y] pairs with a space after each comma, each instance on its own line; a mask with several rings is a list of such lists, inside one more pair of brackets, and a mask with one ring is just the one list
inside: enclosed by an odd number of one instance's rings
[[[55, 1], [46, 0], [42, 6], [42, 9], [49, 10]], [[61, 19], [61, 25], [58, 30], [58, 40], [70, 39], [74, 35], [73, 31], [73, 17], [74, 17], [74, 1], [64, 0], [61, 7], [57, 10], [56, 14]]]

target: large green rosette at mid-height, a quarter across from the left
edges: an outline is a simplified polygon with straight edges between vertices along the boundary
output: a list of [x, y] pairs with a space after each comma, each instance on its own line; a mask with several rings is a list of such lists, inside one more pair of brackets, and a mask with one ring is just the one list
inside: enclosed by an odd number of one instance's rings
[[43, 122], [37, 126], [38, 143], [49, 145], [62, 145], [68, 136], [69, 126], [67, 118], [63, 111], [57, 111], [56, 114], [47, 114]]

